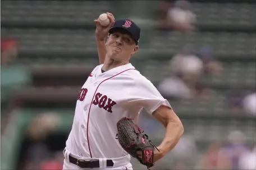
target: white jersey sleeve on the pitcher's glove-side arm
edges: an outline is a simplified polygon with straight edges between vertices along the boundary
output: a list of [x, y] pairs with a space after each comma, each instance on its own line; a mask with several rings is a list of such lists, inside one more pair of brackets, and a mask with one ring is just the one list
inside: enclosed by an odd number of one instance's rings
[[172, 108], [157, 88], [144, 77], [135, 80], [134, 86], [130, 89], [127, 101], [133, 106], [145, 108], [149, 114], [152, 114], [161, 105]]

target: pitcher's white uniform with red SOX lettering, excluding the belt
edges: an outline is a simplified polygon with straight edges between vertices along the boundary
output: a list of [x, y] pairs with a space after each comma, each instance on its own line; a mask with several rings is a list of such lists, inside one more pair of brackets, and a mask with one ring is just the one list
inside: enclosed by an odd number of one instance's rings
[[[99, 159], [102, 162], [100, 169], [132, 169], [130, 155], [116, 139], [117, 121], [126, 116], [138, 122], [143, 108], [152, 114], [161, 105], [171, 107], [156, 87], [132, 64], [103, 73], [102, 66], [94, 68], [77, 94], [63, 169], [77, 168], [68, 162], [69, 153], [77, 159]], [[106, 167], [106, 159], [113, 160], [113, 167]]]

